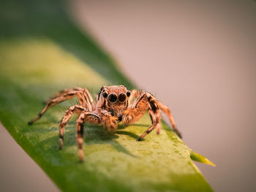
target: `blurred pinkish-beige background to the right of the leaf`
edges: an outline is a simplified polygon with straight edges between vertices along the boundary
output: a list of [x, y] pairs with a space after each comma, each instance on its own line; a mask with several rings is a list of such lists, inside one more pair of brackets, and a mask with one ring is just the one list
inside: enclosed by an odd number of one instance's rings
[[71, 1], [128, 76], [167, 104], [215, 191], [255, 191], [256, 2]]

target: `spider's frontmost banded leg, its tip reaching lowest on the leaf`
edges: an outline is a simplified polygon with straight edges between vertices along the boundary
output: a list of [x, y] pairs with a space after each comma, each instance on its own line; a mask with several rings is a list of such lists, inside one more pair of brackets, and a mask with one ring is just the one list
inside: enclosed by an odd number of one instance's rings
[[77, 120], [77, 141], [78, 141], [78, 155], [80, 161], [83, 161], [83, 123], [99, 124], [102, 123], [102, 119], [99, 115], [92, 112], [81, 112]]

